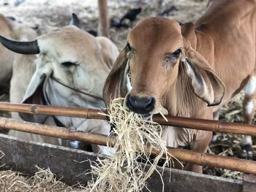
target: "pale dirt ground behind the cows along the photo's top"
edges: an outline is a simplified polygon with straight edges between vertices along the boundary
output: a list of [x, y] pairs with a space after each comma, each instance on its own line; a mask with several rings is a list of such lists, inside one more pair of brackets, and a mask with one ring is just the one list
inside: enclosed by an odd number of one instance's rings
[[[143, 10], [138, 15], [137, 23], [141, 18], [156, 16], [160, 11], [156, 7], [156, 1], [144, 0]], [[174, 5], [177, 10], [170, 12], [168, 18], [174, 18], [178, 22], [185, 23], [200, 17], [206, 9], [207, 1], [200, 0], [178, 0], [164, 1], [162, 8], [165, 9]], [[121, 18], [129, 8], [137, 8], [138, 0], [111, 0], [108, 1], [109, 17]], [[37, 28], [39, 34], [45, 34], [56, 28], [69, 24], [72, 12], [78, 15], [82, 21], [84, 29], [94, 29], [97, 31], [98, 10], [96, 0], [67, 0], [67, 1], [47, 1], [47, 0], [25, 0], [15, 7], [15, 1], [0, 0], [0, 12], [10, 16], [32, 28]], [[134, 23], [134, 24], [135, 24]], [[113, 42], [121, 48], [125, 44], [125, 39], [130, 28], [110, 29], [110, 36]]]

